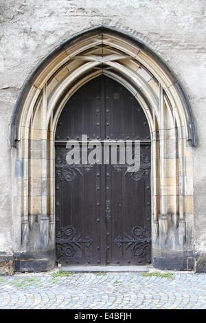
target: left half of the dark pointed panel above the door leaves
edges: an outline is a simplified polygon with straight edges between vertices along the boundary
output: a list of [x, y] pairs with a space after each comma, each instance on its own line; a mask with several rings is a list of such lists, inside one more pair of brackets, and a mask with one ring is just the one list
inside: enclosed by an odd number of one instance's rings
[[[95, 79], [96, 80], [96, 79]], [[92, 80], [71, 96], [58, 120], [56, 140], [80, 140], [82, 134], [89, 139], [100, 137], [101, 80]]]

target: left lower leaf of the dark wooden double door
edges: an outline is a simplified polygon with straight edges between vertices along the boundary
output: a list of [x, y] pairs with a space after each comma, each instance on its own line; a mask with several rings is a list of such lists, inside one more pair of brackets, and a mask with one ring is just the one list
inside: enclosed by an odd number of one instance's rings
[[57, 258], [66, 264], [100, 264], [100, 166], [70, 166], [67, 152], [65, 144], [56, 146]]

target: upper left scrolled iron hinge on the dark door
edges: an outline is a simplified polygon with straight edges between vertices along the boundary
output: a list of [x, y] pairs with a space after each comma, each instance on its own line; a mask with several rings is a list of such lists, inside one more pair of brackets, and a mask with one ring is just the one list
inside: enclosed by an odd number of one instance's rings
[[65, 181], [73, 181], [76, 179], [78, 174], [80, 176], [83, 176], [82, 170], [85, 170], [86, 172], [89, 172], [91, 168], [93, 168], [93, 165], [84, 165], [84, 164], [77, 164], [77, 165], [69, 165], [67, 164], [66, 160], [66, 154], [61, 154], [56, 158], [56, 164], [55, 168], [56, 174], [60, 176], [61, 179], [64, 179]]

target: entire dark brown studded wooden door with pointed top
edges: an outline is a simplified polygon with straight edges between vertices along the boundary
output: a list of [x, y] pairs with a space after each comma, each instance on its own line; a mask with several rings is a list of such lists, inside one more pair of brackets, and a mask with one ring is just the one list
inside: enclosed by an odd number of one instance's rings
[[[68, 165], [66, 143], [141, 140], [141, 166]], [[100, 76], [65, 105], [56, 129], [56, 258], [62, 264], [141, 265], [151, 257], [150, 130], [137, 100]]]

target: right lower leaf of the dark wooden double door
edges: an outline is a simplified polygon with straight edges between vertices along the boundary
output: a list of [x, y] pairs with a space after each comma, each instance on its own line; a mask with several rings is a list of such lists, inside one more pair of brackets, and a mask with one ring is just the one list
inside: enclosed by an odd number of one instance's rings
[[149, 263], [150, 146], [141, 145], [141, 168], [144, 168], [141, 176], [126, 172], [125, 166], [107, 168], [106, 200], [111, 206], [110, 218], [106, 221], [107, 263]]

